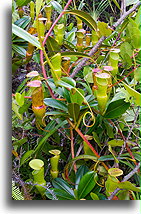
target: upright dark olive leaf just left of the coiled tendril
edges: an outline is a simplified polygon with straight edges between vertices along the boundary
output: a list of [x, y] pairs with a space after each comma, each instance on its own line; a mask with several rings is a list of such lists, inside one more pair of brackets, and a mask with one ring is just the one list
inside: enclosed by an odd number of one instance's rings
[[80, 106], [77, 103], [69, 103], [68, 112], [70, 117], [73, 118], [74, 123], [76, 124], [80, 113]]

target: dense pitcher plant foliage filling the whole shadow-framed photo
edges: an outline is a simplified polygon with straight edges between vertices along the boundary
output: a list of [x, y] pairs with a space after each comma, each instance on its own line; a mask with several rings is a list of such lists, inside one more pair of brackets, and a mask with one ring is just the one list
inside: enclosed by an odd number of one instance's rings
[[138, 0], [12, 1], [13, 200], [140, 200]]

